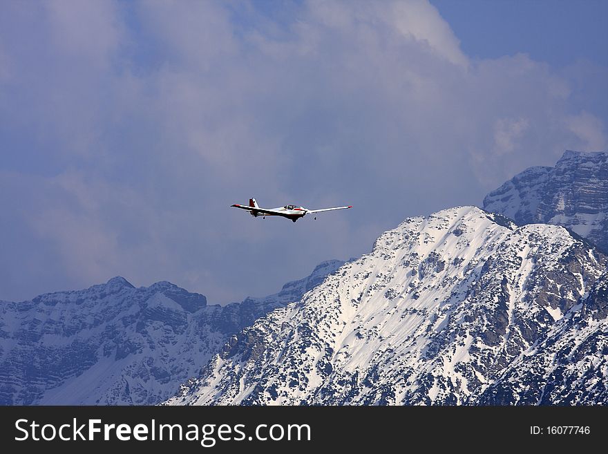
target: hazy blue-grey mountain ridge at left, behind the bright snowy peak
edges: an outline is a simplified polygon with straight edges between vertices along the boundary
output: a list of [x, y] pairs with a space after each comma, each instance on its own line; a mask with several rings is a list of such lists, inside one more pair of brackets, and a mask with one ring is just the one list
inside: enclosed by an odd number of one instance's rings
[[157, 404], [198, 376], [231, 334], [319, 285], [342, 261], [265, 298], [227, 306], [169, 282], [122, 277], [0, 302], [0, 404]]

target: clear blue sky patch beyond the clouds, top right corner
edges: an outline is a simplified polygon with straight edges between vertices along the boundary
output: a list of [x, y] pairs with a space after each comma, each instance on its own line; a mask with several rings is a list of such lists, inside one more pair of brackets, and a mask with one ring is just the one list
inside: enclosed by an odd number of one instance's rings
[[608, 66], [604, 0], [431, 0], [474, 58], [526, 53], [554, 68]]

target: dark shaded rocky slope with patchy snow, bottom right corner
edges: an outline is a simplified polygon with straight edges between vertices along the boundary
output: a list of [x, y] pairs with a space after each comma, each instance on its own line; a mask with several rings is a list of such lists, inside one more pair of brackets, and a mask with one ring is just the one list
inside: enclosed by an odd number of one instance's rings
[[608, 404], [608, 273], [538, 345], [479, 397], [481, 404]]

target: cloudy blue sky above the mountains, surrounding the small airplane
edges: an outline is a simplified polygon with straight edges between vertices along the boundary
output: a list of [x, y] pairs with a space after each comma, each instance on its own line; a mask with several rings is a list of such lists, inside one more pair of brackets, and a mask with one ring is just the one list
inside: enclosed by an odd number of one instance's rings
[[[608, 2], [3, 1], [0, 299], [226, 304], [608, 148]], [[353, 205], [291, 223], [262, 207]]]

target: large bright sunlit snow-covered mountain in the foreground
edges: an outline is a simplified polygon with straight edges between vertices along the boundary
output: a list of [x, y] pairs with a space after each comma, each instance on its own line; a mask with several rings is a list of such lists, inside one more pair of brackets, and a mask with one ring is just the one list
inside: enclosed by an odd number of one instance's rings
[[408, 218], [167, 404], [605, 404], [606, 270], [564, 227]]

